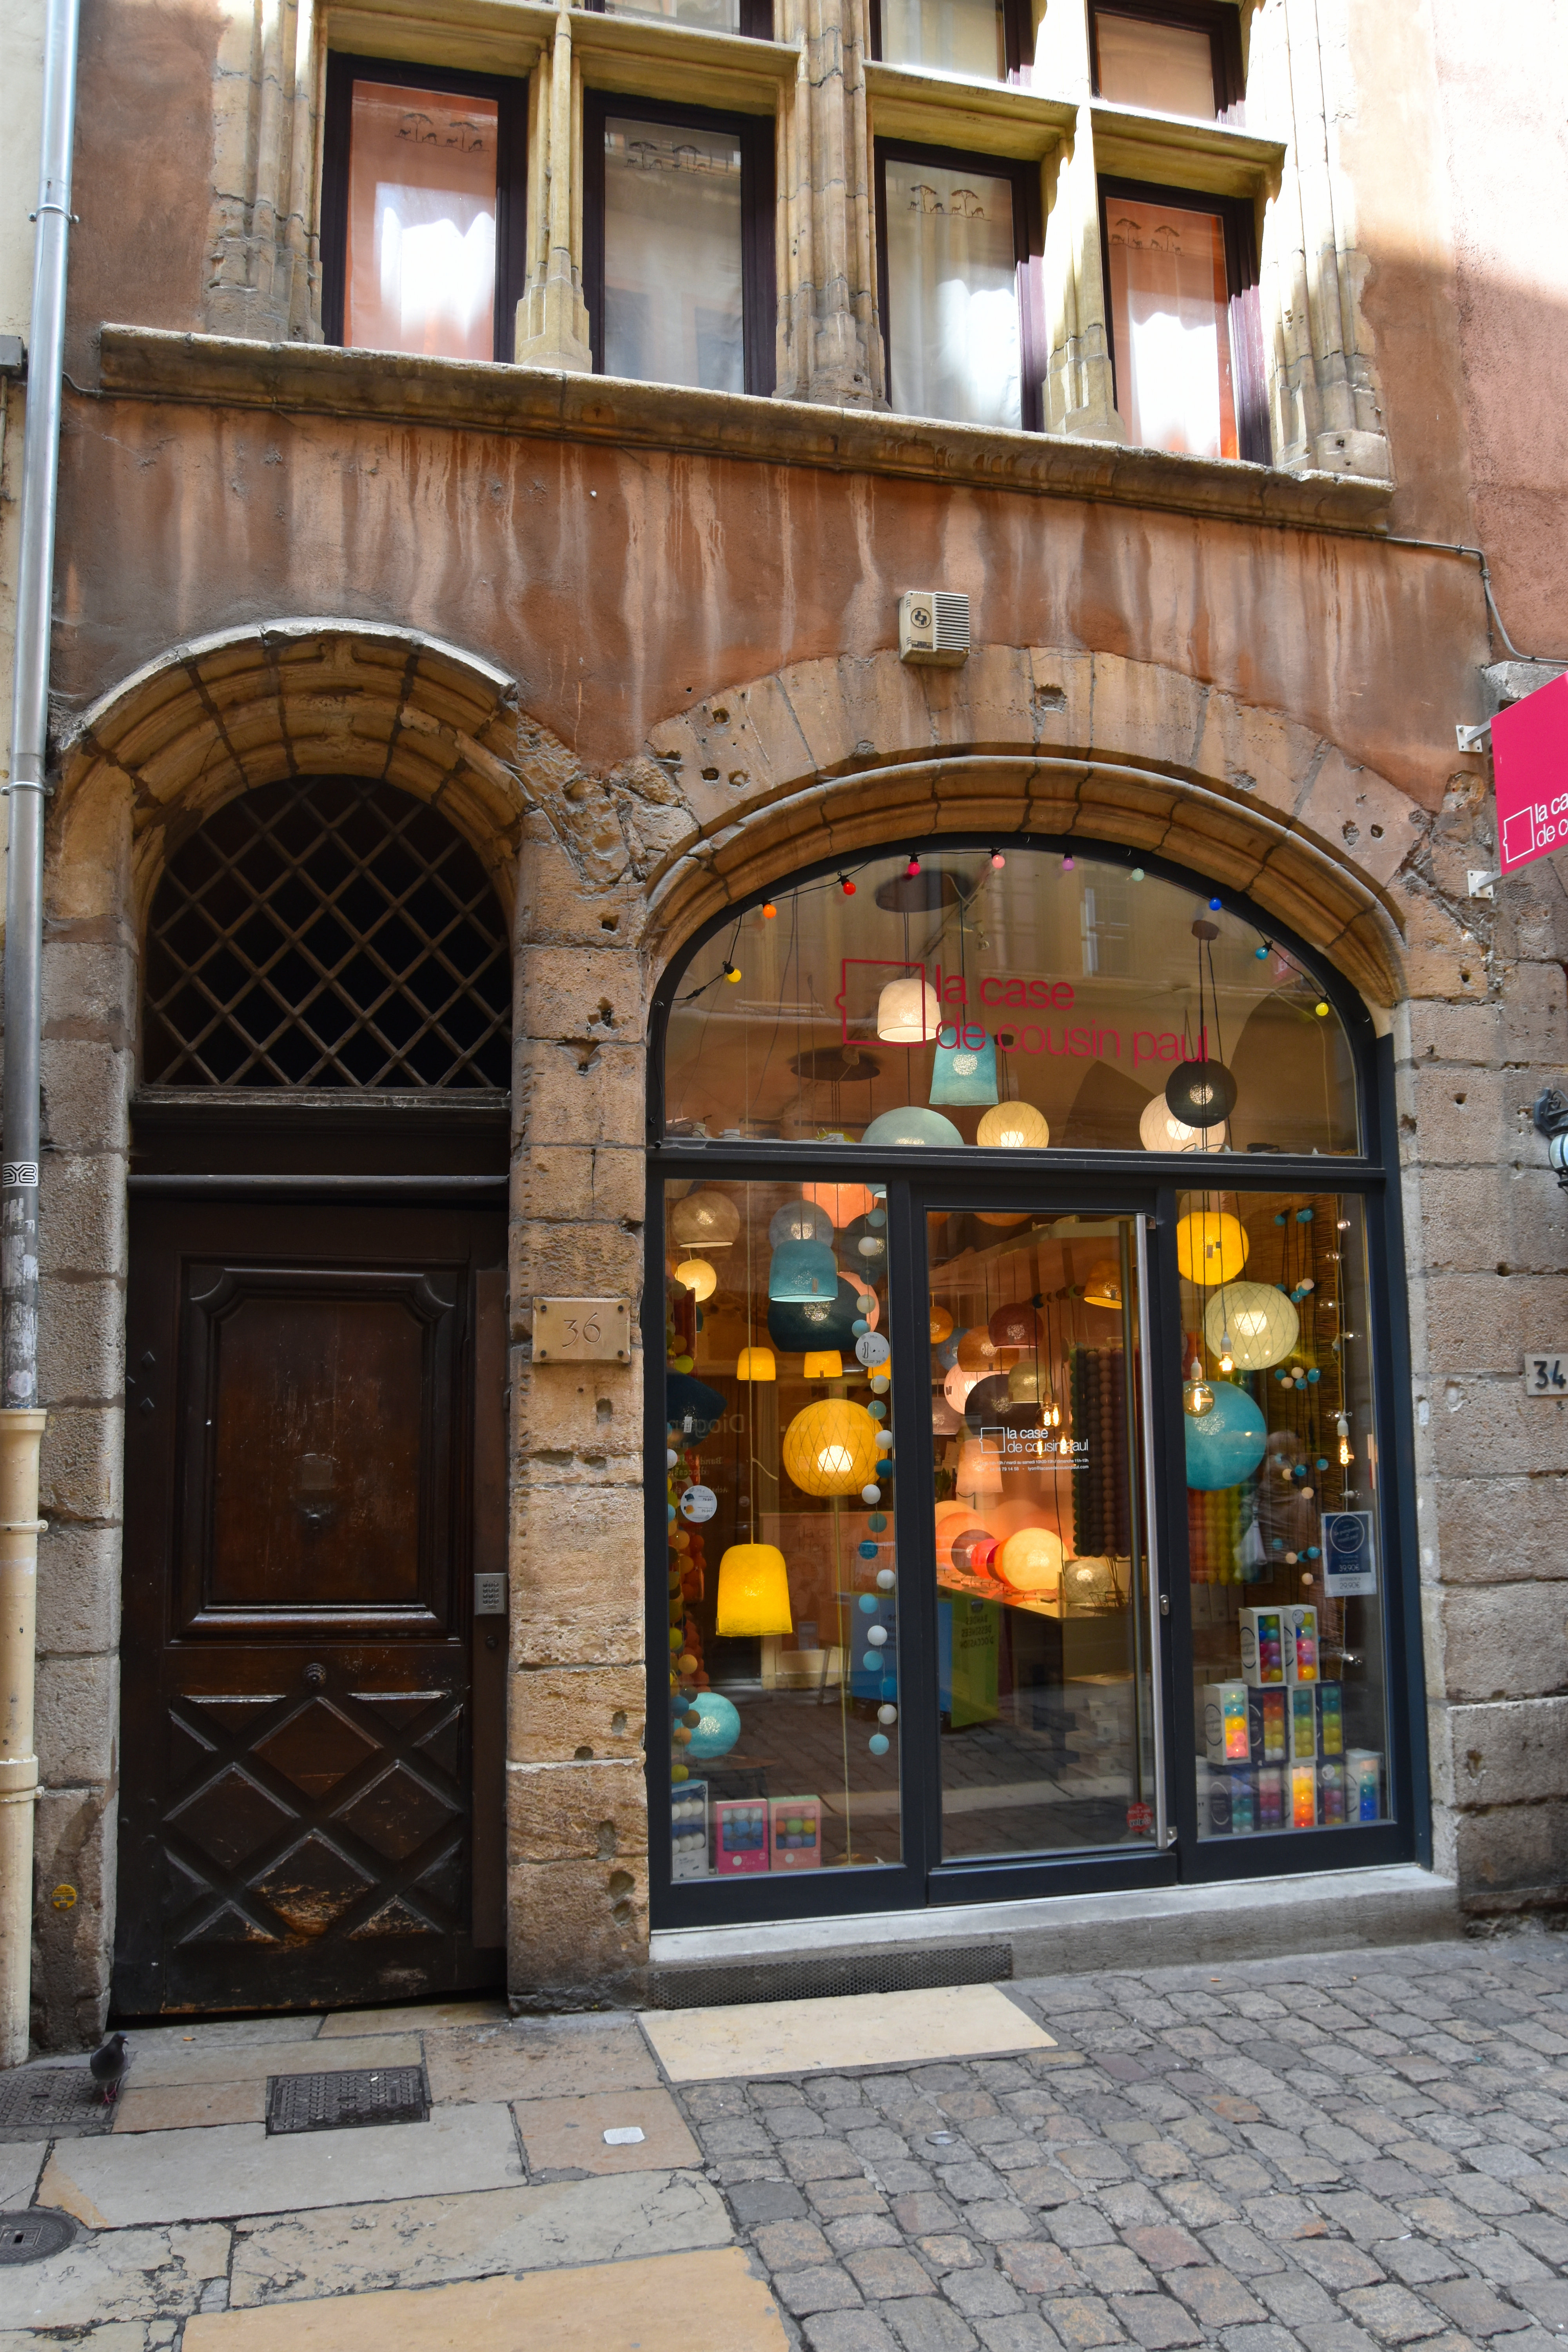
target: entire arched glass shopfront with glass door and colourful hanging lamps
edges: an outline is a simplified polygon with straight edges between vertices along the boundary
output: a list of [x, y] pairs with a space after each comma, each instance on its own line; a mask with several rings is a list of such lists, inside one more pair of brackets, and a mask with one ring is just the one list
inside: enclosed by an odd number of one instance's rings
[[661, 1917], [1413, 1851], [1354, 995], [1020, 844], [778, 887], [661, 995]]

